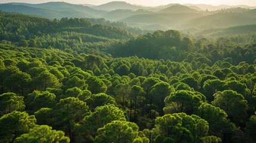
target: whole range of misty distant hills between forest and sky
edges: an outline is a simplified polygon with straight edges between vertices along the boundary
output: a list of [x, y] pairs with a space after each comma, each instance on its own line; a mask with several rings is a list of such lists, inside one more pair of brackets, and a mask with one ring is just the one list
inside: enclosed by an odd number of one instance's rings
[[[234, 7], [230, 5], [168, 4], [158, 7], [141, 7], [127, 2], [114, 1], [103, 5], [88, 6], [66, 2], [9, 3], [0, 4], [0, 10], [57, 19], [62, 17], [104, 18], [112, 22], [128, 23], [131, 27], [144, 30], [222, 29], [256, 24], [256, 9], [249, 10], [248, 8], [252, 7], [246, 5]], [[206, 9], [208, 11], [205, 11]]]

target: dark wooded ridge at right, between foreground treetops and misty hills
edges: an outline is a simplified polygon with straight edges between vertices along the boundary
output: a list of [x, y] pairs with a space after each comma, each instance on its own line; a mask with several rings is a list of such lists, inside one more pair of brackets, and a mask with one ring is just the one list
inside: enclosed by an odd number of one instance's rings
[[[200, 61], [212, 65], [217, 61], [231, 64], [255, 63], [254, 33], [223, 36], [215, 41], [209, 39], [183, 38], [177, 30], [161, 31], [138, 36], [125, 43], [118, 43], [110, 52], [114, 57], [164, 59], [171, 61]], [[242, 43], [242, 45], [241, 45]]]

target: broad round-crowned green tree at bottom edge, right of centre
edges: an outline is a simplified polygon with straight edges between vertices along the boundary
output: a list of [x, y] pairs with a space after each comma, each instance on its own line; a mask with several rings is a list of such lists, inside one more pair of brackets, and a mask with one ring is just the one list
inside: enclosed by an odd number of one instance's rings
[[[208, 135], [208, 128], [208, 123], [199, 116], [175, 113], [156, 118], [153, 131], [161, 135], [163, 141], [200, 142], [202, 137]], [[155, 139], [159, 140], [159, 137]]]

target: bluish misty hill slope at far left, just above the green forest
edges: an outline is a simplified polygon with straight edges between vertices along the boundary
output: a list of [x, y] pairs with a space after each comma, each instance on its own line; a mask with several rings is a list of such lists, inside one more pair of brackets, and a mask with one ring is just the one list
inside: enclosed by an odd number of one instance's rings
[[[62, 17], [101, 17], [106, 11], [94, 10], [83, 5], [66, 2], [47, 2], [44, 4], [9, 3], [1, 4], [0, 10], [24, 14], [40, 15], [47, 18]], [[29, 11], [28, 11], [29, 10]], [[43, 11], [43, 12], [41, 12]], [[49, 14], [50, 13], [50, 14]]]

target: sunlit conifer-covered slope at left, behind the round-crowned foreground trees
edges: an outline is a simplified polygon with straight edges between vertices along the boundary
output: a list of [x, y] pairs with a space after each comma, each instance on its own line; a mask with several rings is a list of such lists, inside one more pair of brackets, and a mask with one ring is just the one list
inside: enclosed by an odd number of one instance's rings
[[0, 20], [0, 41], [11, 41], [18, 46], [88, 52], [88, 48], [106, 49], [118, 42], [117, 39], [122, 41], [132, 37], [125, 29], [93, 25], [85, 18], [48, 20], [29, 15], [0, 13]]

